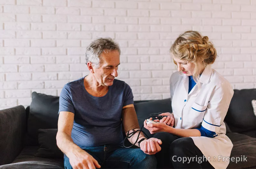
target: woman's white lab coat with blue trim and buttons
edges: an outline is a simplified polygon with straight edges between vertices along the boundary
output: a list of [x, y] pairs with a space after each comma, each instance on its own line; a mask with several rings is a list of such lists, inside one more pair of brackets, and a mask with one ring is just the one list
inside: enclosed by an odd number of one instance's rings
[[[227, 160], [219, 156], [230, 157], [233, 147], [226, 136], [223, 122], [234, 91], [229, 82], [211, 66], [207, 66], [200, 77], [198, 86], [188, 94], [188, 76], [175, 72], [170, 78], [172, 112], [175, 128], [192, 129], [202, 124], [205, 129], [216, 133], [215, 137], [191, 137], [205, 157], [210, 157], [210, 164], [217, 169], [227, 168]], [[223, 159], [223, 158], [221, 158]]]

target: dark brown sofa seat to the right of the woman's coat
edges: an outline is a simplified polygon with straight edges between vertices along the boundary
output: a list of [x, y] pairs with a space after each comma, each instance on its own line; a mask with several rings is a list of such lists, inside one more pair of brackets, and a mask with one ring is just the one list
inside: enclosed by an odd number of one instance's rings
[[247, 157], [247, 161], [230, 161], [228, 168], [256, 168], [256, 138], [239, 133], [227, 133], [233, 143], [230, 157]]

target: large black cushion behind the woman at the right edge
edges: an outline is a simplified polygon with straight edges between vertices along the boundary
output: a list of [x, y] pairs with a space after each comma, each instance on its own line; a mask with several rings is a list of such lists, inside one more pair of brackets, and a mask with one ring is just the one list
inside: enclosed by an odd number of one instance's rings
[[232, 132], [244, 132], [256, 129], [256, 117], [252, 100], [256, 99], [256, 89], [234, 90], [225, 121]]

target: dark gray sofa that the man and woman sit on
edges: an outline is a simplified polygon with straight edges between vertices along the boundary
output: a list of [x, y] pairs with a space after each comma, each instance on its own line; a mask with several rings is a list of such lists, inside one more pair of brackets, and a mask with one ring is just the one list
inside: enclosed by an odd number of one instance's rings
[[[230, 162], [228, 168], [256, 168], [256, 117], [252, 99], [256, 99], [256, 89], [234, 90], [225, 118], [227, 135], [234, 144], [231, 157], [245, 156], [247, 162]], [[170, 99], [135, 101], [134, 105], [140, 126], [149, 115], [172, 112]], [[33, 92], [30, 107], [0, 111], [0, 169], [64, 168], [62, 156], [48, 153], [42, 158], [39, 153], [45, 151], [40, 145], [39, 131], [57, 129], [58, 106], [58, 97]], [[54, 140], [52, 133], [49, 138], [46, 136], [48, 144]], [[56, 148], [54, 143], [51, 146]]]

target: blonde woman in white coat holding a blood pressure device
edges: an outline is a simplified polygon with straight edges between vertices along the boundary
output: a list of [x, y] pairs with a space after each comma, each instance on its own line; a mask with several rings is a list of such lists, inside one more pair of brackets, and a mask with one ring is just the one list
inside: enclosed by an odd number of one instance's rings
[[[170, 78], [173, 113], [144, 127], [161, 139], [159, 168], [227, 168], [233, 144], [223, 122], [233, 96], [211, 64], [216, 49], [197, 31], [182, 33], [170, 49], [178, 71]], [[169, 155], [168, 155], [169, 154]]]

